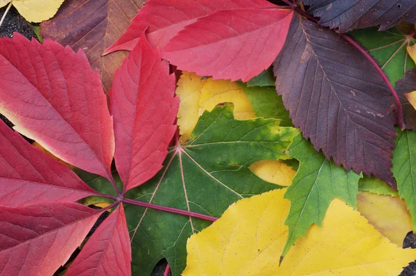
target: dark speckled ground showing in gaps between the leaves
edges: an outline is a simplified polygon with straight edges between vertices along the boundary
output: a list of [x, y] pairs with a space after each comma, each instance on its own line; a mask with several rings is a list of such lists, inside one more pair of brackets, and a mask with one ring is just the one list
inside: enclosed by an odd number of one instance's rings
[[[6, 7], [0, 9], [0, 18], [3, 16], [3, 12], [6, 10]], [[6, 19], [3, 21], [2, 26], [0, 27], [0, 37], [12, 37], [13, 33], [21, 33], [22, 35], [31, 39], [31, 37], [36, 37], [32, 28], [24, 20], [23, 17], [19, 15], [15, 8], [11, 8], [6, 16]], [[0, 119], [3, 119], [0, 114]], [[408, 234], [406, 239], [404, 239], [404, 248], [416, 248], [416, 236], [413, 234]], [[166, 260], [163, 259], [159, 261], [155, 270], [151, 276], [162, 276], [164, 275], [164, 270], [166, 268]], [[171, 273], [169, 273], [171, 275]], [[416, 261], [411, 263], [409, 266], [404, 268], [400, 276], [416, 276]]]

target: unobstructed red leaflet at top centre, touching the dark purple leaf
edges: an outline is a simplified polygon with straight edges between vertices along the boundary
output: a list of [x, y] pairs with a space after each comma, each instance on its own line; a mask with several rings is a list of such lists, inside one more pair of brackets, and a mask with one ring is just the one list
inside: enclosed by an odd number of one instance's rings
[[270, 67], [283, 47], [293, 12], [220, 10], [186, 26], [162, 49], [178, 69], [247, 81]]

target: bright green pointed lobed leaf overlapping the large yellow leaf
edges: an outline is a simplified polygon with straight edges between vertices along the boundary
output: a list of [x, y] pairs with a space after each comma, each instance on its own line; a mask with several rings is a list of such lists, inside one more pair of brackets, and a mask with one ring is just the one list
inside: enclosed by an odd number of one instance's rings
[[362, 175], [357, 175], [354, 171], [347, 172], [343, 167], [328, 161], [302, 135], [293, 139], [289, 155], [298, 159], [300, 166], [284, 196], [291, 200], [291, 209], [285, 221], [289, 230], [282, 256], [286, 255], [300, 236], [306, 234], [313, 223], [322, 226], [333, 198], [340, 198], [356, 207], [358, 180]]

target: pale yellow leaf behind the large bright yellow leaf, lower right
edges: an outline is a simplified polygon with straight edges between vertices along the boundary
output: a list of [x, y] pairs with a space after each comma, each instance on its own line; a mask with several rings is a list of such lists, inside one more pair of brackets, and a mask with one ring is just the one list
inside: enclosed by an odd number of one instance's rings
[[403, 245], [406, 234], [413, 230], [406, 202], [399, 197], [361, 191], [357, 195], [357, 210], [376, 230], [399, 246]]

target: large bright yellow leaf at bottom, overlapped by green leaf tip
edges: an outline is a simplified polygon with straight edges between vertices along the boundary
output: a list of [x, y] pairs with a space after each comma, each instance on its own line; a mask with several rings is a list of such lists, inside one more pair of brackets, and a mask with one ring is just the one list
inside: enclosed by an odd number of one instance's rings
[[188, 240], [183, 275], [399, 275], [416, 250], [398, 248], [351, 207], [333, 200], [279, 266], [288, 228], [285, 189], [236, 202]]

